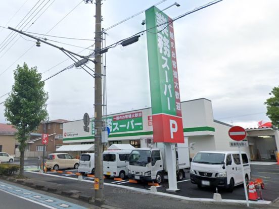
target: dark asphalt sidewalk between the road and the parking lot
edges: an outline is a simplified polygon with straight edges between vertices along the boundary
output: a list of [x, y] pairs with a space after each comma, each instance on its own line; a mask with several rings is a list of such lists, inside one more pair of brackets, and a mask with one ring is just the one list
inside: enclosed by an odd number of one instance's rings
[[[64, 195], [80, 201], [89, 202], [94, 197], [94, 182], [84, 182], [25, 172], [27, 180], [9, 181], [24, 184], [29, 187]], [[161, 196], [153, 193], [144, 193], [105, 185], [105, 202], [99, 205], [103, 208], [247, 208], [245, 204], [227, 202], [189, 201]], [[279, 200], [273, 204], [251, 204], [250, 208], [278, 208]]]

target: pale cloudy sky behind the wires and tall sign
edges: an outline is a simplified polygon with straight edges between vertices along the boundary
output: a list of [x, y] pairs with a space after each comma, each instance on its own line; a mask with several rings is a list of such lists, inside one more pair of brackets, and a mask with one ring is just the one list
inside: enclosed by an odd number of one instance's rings
[[[103, 1], [102, 27], [113, 26], [159, 2]], [[173, 6], [164, 11], [171, 18], [205, 5], [210, 0], [176, 2], [180, 7]], [[163, 10], [173, 3], [166, 0], [157, 7]], [[30, 10], [28, 21], [34, 18], [29, 23], [24, 22], [29, 15], [23, 18]], [[175, 21], [180, 100], [207, 98], [212, 101], [214, 119], [232, 125], [252, 128], [257, 127], [258, 121], [269, 121], [264, 102], [270, 97], [272, 88], [278, 86], [279, 80], [278, 10], [277, 0], [223, 0]], [[81, 0], [16, 0], [0, 3], [0, 26], [90, 39], [44, 36], [51, 43], [83, 56], [94, 49], [89, 47], [94, 44], [94, 16], [95, 4], [85, 4]], [[145, 30], [141, 24], [144, 19], [145, 13], [141, 13], [107, 30], [106, 44]], [[23, 35], [17, 34], [6, 46], [5, 38], [10, 33], [11, 30], [0, 28], [0, 103], [8, 96], [4, 94], [12, 89], [13, 71], [17, 65], [22, 66], [25, 62], [29, 67], [36, 66], [42, 79], [45, 79], [73, 64], [61, 50], [43, 43], [36, 47], [33, 39]], [[89, 49], [84, 49], [86, 47]], [[146, 34], [132, 45], [118, 45], [109, 49], [106, 54], [108, 114], [151, 107], [147, 59]], [[88, 66], [94, 68], [92, 63]], [[94, 78], [84, 70], [72, 68], [58, 74], [45, 81], [45, 90], [49, 92], [50, 120], [72, 121], [82, 119], [84, 113], [90, 117], [94, 115]], [[0, 123], [7, 123], [4, 109], [4, 105], [0, 105]]]

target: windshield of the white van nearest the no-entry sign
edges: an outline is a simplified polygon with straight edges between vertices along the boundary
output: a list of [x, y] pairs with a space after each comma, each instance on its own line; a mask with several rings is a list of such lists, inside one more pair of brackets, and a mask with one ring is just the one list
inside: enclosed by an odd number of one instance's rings
[[223, 164], [224, 158], [225, 154], [222, 153], [199, 152], [193, 159], [193, 163]]

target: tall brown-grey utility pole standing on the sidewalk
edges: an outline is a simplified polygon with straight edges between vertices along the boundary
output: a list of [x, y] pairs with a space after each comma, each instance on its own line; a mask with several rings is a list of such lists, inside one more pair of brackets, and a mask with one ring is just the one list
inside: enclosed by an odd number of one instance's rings
[[101, 0], [96, 0], [95, 22], [95, 201], [103, 202], [104, 197], [104, 173], [103, 173], [103, 144], [102, 144], [102, 14]]

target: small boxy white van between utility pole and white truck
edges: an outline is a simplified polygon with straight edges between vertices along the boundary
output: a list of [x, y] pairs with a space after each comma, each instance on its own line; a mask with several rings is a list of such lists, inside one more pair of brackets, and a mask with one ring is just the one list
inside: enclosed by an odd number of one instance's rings
[[119, 177], [128, 175], [128, 159], [131, 150], [105, 150], [103, 152], [104, 175], [107, 177]]

